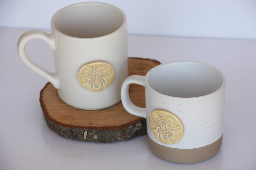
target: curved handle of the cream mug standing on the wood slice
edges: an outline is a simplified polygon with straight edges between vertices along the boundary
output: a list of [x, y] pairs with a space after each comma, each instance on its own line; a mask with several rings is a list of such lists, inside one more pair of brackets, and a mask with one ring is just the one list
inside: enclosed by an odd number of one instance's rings
[[17, 44], [17, 51], [20, 56], [20, 59], [33, 71], [35, 71], [37, 74], [48, 80], [52, 83], [52, 85], [58, 89], [60, 88], [59, 79], [57, 78], [56, 74], [49, 72], [43, 68], [40, 68], [36, 64], [32, 63], [28, 56], [25, 53], [25, 46], [28, 43], [28, 41], [33, 39], [40, 39], [45, 41], [48, 46], [54, 50], [55, 49], [55, 42], [53, 40], [53, 37], [51, 34], [47, 34], [42, 30], [29, 30], [25, 33], [23, 33], [20, 36], [20, 39]]

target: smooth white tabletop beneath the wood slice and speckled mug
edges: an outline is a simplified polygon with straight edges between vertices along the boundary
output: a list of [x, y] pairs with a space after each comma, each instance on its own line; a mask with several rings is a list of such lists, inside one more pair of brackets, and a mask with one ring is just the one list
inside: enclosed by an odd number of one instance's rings
[[[211, 159], [181, 165], [156, 157], [147, 135], [111, 144], [60, 137], [47, 127], [39, 92], [47, 81], [21, 62], [23, 29], [0, 28], [0, 169], [256, 169], [256, 40], [129, 35], [129, 56], [161, 63], [189, 60], [211, 64], [226, 77], [223, 143]], [[48, 31], [49, 32], [49, 31]], [[51, 49], [41, 40], [28, 56], [54, 72]]]

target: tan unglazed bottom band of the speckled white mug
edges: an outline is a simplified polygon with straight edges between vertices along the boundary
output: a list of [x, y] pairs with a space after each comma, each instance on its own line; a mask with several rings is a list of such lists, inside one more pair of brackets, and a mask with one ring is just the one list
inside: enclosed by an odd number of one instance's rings
[[161, 159], [179, 164], [193, 164], [212, 158], [220, 150], [222, 136], [212, 144], [194, 149], [177, 149], [166, 147], [157, 144], [149, 136], [148, 145], [152, 152]]

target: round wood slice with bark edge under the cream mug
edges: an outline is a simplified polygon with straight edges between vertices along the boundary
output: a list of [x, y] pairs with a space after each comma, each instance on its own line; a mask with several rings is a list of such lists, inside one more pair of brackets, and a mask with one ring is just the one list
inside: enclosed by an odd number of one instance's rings
[[[142, 75], [160, 63], [156, 60], [129, 58], [129, 76]], [[145, 107], [145, 88], [131, 84], [132, 103]], [[57, 90], [47, 83], [40, 92], [40, 104], [50, 129], [62, 137], [87, 141], [112, 143], [130, 140], [147, 133], [146, 119], [129, 114], [120, 101], [101, 110], [80, 110], [68, 106], [58, 96]]]

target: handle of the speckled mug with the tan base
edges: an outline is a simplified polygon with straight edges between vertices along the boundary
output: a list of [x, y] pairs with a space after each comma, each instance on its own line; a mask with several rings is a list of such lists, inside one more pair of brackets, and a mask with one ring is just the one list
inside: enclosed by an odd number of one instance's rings
[[129, 85], [130, 84], [143, 85], [145, 87], [145, 76], [132, 75], [127, 77], [121, 87], [121, 100], [123, 106], [127, 112], [132, 115], [146, 118], [146, 108], [135, 106], [129, 97]]

